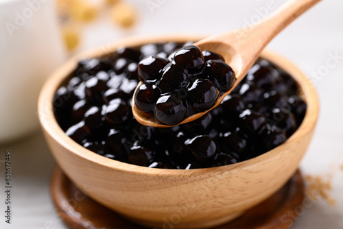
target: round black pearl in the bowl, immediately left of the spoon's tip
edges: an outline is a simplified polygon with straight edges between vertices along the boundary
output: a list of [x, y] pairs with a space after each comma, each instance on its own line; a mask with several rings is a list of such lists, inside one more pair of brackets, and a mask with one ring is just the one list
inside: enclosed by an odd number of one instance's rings
[[120, 124], [126, 121], [130, 115], [128, 104], [122, 99], [113, 99], [104, 110], [105, 120], [110, 124]]

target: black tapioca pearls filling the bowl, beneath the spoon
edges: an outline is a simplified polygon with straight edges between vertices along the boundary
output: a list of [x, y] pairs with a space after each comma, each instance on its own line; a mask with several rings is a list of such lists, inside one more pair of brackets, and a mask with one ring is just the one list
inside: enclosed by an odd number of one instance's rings
[[[104, 58], [80, 61], [54, 97], [62, 130], [106, 158], [144, 167], [197, 169], [259, 156], [285, 142], [303, 121], [307, 106], [296, 82], [267, 60], [258, 60], [222, 104], [200, 119], [171, 128], [141, 125], [130, 107], [139, 63], [147, 56], [175, 56], [181, 47], [123, 47]], [[205, 62], [218, 60], [215, 53], [202, 54]]]

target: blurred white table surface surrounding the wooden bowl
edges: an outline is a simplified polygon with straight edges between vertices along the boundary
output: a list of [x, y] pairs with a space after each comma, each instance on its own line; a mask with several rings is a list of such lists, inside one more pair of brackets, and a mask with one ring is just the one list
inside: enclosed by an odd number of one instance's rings
[[[152, 0], [154, 1], [154, 0]], [[272, 1], [272, 0], [271, 0]], [[139, 11], [139, 23], [123, 32], [110, 25], [106, 16], [88, 25], [80, 50], [113, 42], [118, 38], [137, 34], [215, 34], [241, 27], [266, 5], [263, 0], [246, 1], [159, 1], [161, 5], [150, 11], [148, 1], [132, 0]], [[157, 1], [154, 1], [157, 2]], [[272, 1], [281, 5], [285, 0]], [[196, 3], [196, 4], [195, 4]], [[195, 4], [195, 5], [193, 5]], [[177, 16], [175, 18], [175, 16]], [[343, 165], [343, 1], [326, 0], [305, 13], [279, 34], [269, 49], [295, 62], [313, 78], [320, 97], [320, 118], [313, 141], [301, 162], [306, 175], [329, 176], [333, 168]], [[341, 56], [335, 67], [323, 71], [331, 55]], [[0, 146], [0, 174], [3, 174], [4, 152], [12, 152], [12, 224], [5, 224], [5, 196], [0, 192], [0, 228], [51, 229], [66, 228], [54, 213], [49, 193], [49, 180], [55, 162], [43, 135], [38, 129], [31, 136]], [[3, 175], [0, 176], [3, 187]], [[318, 200], [305, 208], [292, 228], [343, 228], [343, 171], [331, 180], [335, 206]]]

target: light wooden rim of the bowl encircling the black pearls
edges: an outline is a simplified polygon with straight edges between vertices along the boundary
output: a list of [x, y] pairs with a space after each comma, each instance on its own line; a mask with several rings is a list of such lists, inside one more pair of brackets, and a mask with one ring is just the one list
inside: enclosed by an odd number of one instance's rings
[[67, 80], [67, 77], [69, 77], [70, 73], [75, 69], [75, 67], [77, 66], [76, 64], [78, 64], [79, 60], [82, 60], [84, 58], [97, 58], [106, 56], [106, 54], [111, 53], [117, 48], [123, 46], [130, 47], [163, 41], [185, 42], [187, 40], [199, 40], [203, 37], [204, 36], [201, 35], [135, 36], [132, 38], [118, 40], [110, 45], [92, 49], [91, 51], [85, 51], [71, 57], [69, 60], [67, 60], [67, 62], [64, 62], [64, 64], [62, 64], [58, 69], [56, 69], [56, 71], [54, 71], [54, 73], [49, 76], [40, 91], [40, 95], [38, 97], [38, 118], [41, 128], [43, 128], [47, 134], [54, 138], [55, 141], [62, 145], [62, 147], [68, 149], [71, 154], [79, 156], [85, 160], [88, 160], [89, 162], [107, 167], [108, 169], [116, 169], [118, 171], [130, 172], [134, 174], [143, 174], [145, 176], [158, 175], [159, 177], [192, 176], [202, 171], [211, 171], [211, 174], [214, 175], [216, 173], [233, 172], [234, 170], [250, 167], [256, 164], [263, 164], [268, 160], [272, 160], [272, 158], [278, 156], [284, 150], [289, 149], [291, 145], [297, 144], [301, 138], [306, 136], [309, 132], [311, 132], [311, 130], [314, 129], [319, 112], [318, 95], [316, 93], [314, 85], [305, 74], [303, 74], [294, 64], [292, 64], [292, 62], [289, 62], [289, 60], [287, 60], [283, 56], [272, 51], [263, 51], [261, 53], [261, 57], [270, 60], [270, 62], [294, 77], [302, 90], [305, 101], [307, 102], [307, 111], [301, 125], [298, 127], [296, 132], [292, 134], [292, 136], [287, 138], [287, 141], [285, 141], [285, 143], [255, 158], [250, 158], [249, 160], [244, 160], [233, 165], [224, 165], [220, 167], [211, 167], [204, 169], [186, 170], [142, 167], [139, 165], [132, 165], [126, 162], [120, 162], [118, 160], [106, 158], [104, 156], [96, 154], [95, 152], [91, 152], [90, 150], [84, 148], [82, 145], [79, 145], [71, 138], [69, 138], [69, 136], [67, 136], [63, 132], [62, 128], [60, 128], [60, 125], [58, 125], [54, 117], [52, 106], [53, 97], [57, 89], [62, 85], [62, 82]]

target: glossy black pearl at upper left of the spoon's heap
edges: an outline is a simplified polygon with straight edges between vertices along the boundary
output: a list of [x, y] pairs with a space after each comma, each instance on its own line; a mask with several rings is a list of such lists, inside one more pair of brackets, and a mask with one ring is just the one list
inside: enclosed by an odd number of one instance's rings
[[139, 62], [138, 75], [143, 82], [159, 80], [167, 60], [159, 56], [147, 56]]

